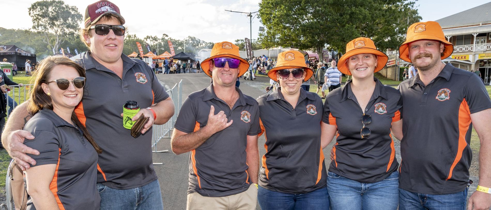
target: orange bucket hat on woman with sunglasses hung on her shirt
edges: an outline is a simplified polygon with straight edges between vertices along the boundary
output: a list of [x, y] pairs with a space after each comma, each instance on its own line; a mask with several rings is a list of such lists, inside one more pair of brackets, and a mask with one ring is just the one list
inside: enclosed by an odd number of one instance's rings
[[348, 59], [351, 56], [363, 53], [377, 55], [377, 66], [373, 71], [374, 73], [382, 70], [385, 64], [387, 64], [387, 60], [389, 60], [389, 57], [385, 53], [375, 47], [373, 40], [366, 37], [359, 37], [346, 44], [346, 53], [339, 59], [338, 70], [346, 75], [351, 75], [347, 64]]

